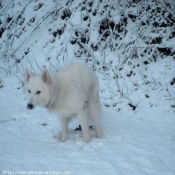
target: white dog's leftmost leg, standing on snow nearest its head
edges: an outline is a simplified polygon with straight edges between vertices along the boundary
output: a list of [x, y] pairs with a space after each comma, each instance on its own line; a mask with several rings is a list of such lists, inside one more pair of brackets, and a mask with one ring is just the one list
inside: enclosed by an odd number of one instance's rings
[[68, 120], [66, 117], [59, 116], [59, 118], [62, 131], [57, 138], [60, 139], [62, 142], [65, 142], [68, 138]]

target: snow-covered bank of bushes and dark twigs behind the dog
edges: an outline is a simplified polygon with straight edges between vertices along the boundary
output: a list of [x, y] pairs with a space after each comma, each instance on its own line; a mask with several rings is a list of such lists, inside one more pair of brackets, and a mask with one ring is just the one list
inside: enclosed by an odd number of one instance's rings
[[[1, 71], [21, 80], [26, 66], [55, 71], [70, 62], [86, 62], [97, 72], [105, 106], [120, 111], [124, 99], [135, 110], [143, 98], [151, 98], [147, 92], [140, 97], [140, 91], [160, 88], [160, 80], [148, 72], [151, 65], [175, 59], [174, 4], [174, 0], [3, 0]], [[173, 76], [169, 84], [174, 84]]]

